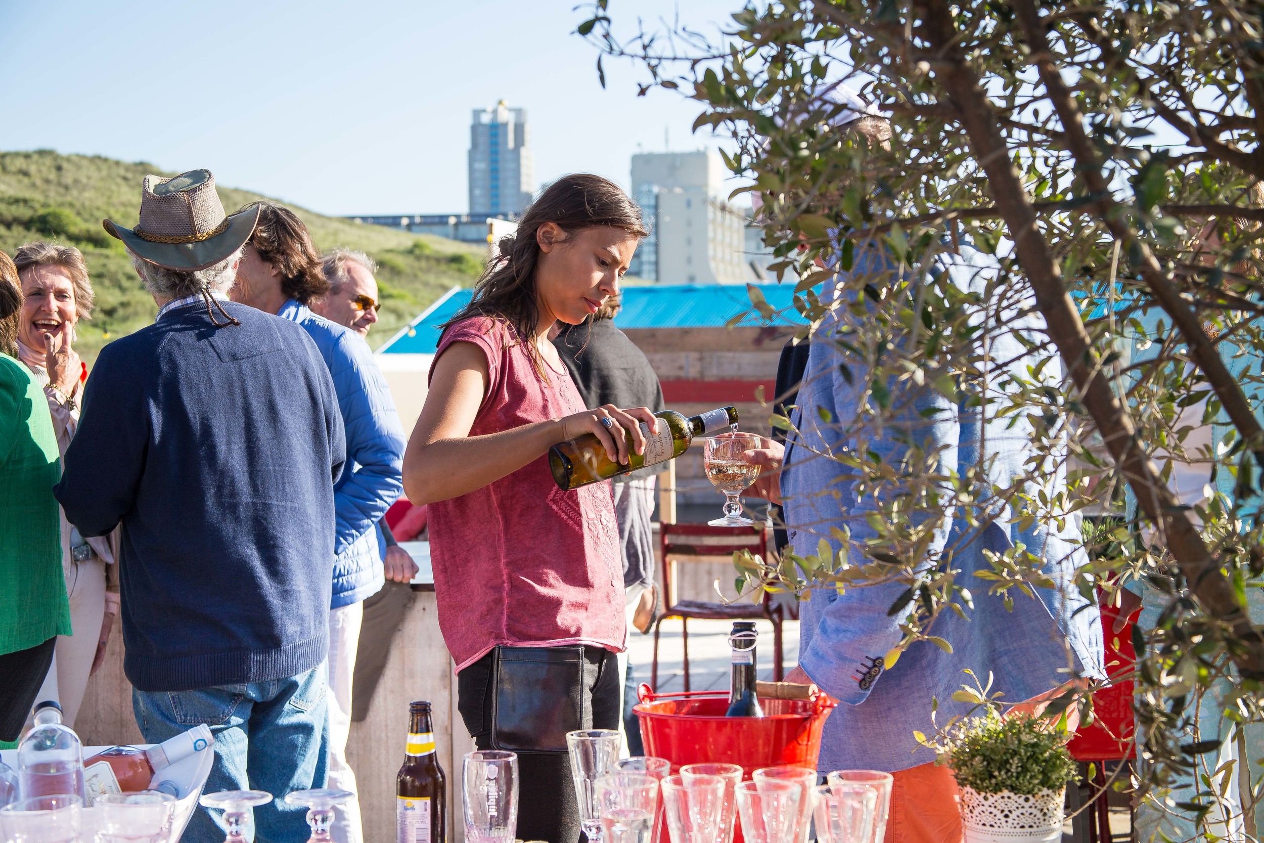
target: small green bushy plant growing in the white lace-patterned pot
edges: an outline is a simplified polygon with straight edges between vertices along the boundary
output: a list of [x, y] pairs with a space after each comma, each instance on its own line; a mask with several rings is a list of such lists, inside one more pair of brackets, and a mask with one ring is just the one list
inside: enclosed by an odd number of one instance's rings
[[952, 765], [959, 786], [981, 794], [1060, 790], [1076, 776], [1066, 732], [1026, 714], [991, 712], [966, 720], [947, 739], [940, 762]]

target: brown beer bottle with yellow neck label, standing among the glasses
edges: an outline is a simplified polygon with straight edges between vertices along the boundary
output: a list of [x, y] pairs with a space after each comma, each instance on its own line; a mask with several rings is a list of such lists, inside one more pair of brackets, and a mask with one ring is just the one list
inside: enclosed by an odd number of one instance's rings
[[435, 755], [430, 703], [408, 705], [408, 744], [396, 776], [396, 843], [445, 843], [447, 785]]

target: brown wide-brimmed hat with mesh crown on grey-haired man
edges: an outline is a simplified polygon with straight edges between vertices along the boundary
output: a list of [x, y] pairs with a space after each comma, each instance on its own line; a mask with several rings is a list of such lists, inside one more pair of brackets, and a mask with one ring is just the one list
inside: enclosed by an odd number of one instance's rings
[[145, 176], [137, 227], [125, 229], [112, 220], [101, 225], [149, 263], [196, 272], [240, 249], [258, 221], [258, 205], [226, 216], [215, 176], [191, 169], [172, 178]]

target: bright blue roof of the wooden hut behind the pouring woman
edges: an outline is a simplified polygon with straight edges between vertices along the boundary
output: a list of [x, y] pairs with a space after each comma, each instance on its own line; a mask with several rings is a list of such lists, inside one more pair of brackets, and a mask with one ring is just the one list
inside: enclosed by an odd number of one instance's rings
[[[800, 325], [803, 318], [794, 310], [794, 283], [752, 284], [763, 293], [779, 315], [775, 325]], [[470, 289], [453, 287], [431, 305], [408, 327], [378, 349], [379, 354], [434, 354], [439, 343], [439, 326], [469, 303]], [[623, 310], [614, 317], [622, 329], [637, 327], [723, 327], [728, 320], [751, 310], [751, 298], [741, 284], [664, 284], [623, 288]], [[747, 316], [742, 325], [760, 326], [767, 322], [756, 315]]]

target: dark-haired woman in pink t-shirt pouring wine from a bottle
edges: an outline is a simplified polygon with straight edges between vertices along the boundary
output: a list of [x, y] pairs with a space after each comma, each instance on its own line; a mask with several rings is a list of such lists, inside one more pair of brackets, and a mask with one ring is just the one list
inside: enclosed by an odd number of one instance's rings
[[646, 229], [597, 176], [554, 182], [499, 243], [444, 329], [403, 484], [428, 504], [439, 623], [458, 708], [480, 749], [518, 753], [517, 837], [575, 843], [565, 733], [617, 729], [623, 569], [609, 485], [561, 489], [546, 454], [593, 434], [611, 460], [645, 452], [645, 407], [585, 409], [550, 330], [618, 294]]

